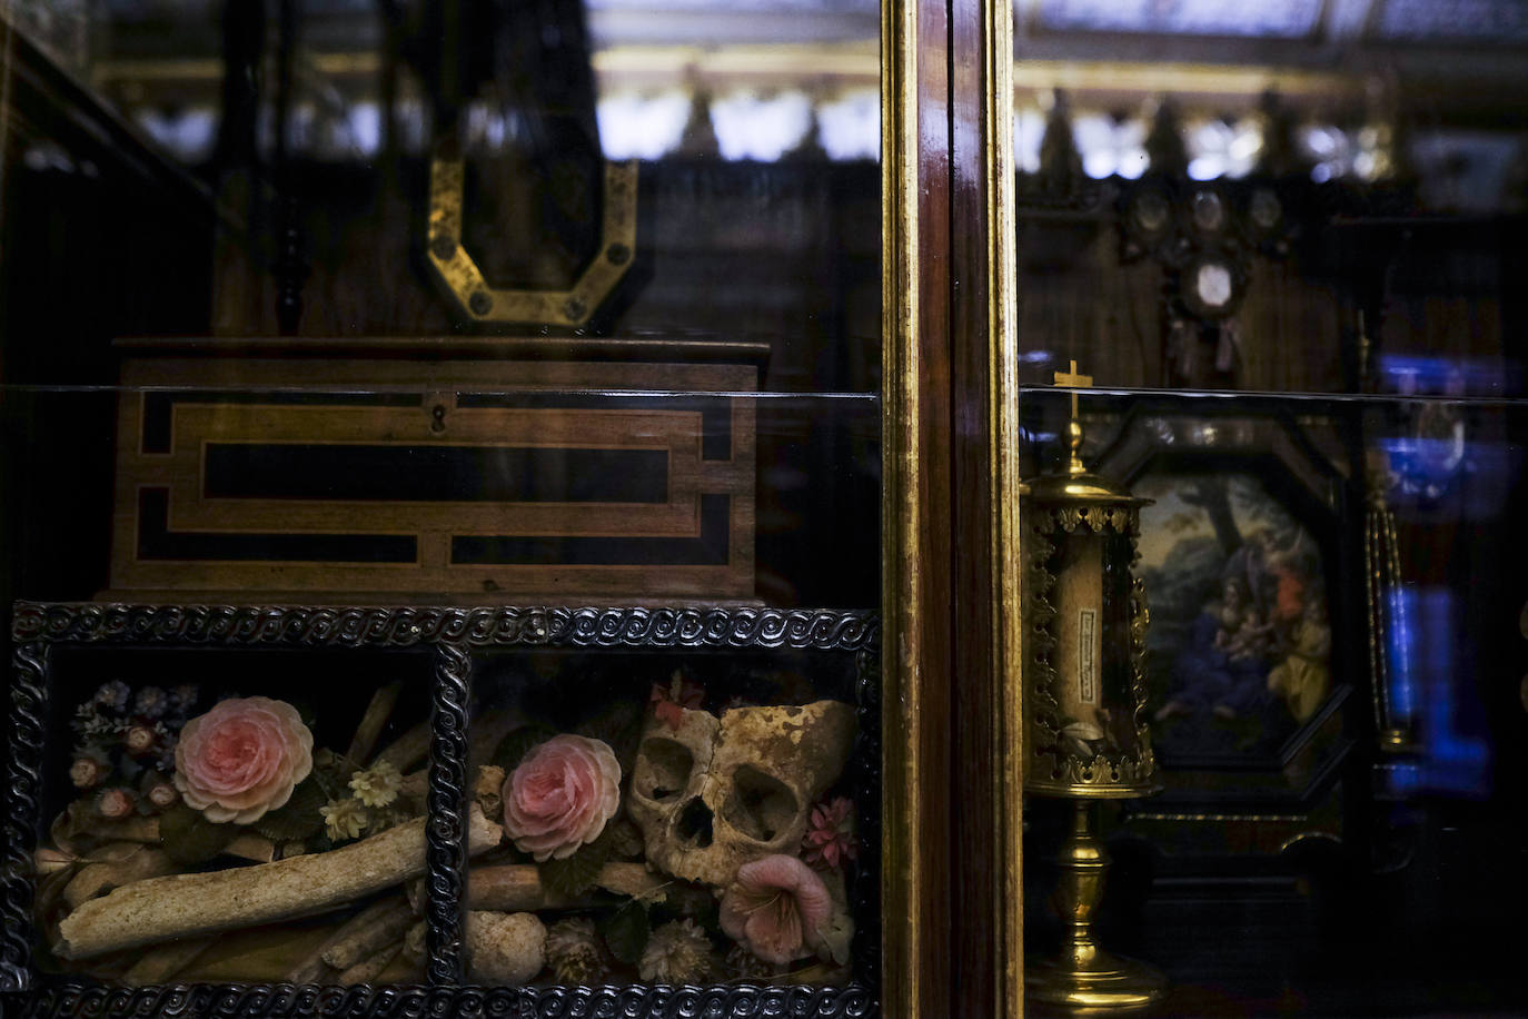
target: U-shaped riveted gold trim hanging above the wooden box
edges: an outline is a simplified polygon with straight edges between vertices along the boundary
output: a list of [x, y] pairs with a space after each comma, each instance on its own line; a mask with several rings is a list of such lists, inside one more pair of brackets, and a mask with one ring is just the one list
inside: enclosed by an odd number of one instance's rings
[[445, 142], [429, 163], [429, 241], [426, 257], [435, 280], [466, 319], [481, 324], [524, 322], [579, 327], [631, 269], [637, 251], [637, 160], [605, 163], [605, 212], [599, 254], [567, 290], [495, 289], [461, 246], [465, 163]]

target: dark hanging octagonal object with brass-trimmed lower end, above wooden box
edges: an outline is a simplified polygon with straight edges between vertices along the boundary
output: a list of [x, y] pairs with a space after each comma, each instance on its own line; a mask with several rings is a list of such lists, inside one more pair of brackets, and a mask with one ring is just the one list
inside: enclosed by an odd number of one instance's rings
[[420, 38], [440, 40], [420, 66], [437, 82], [429, 275], [469, 327], [588, 327], [637, 257], [637, 163], [601, 151], [582, 3], [442, 0], [425, 17]]

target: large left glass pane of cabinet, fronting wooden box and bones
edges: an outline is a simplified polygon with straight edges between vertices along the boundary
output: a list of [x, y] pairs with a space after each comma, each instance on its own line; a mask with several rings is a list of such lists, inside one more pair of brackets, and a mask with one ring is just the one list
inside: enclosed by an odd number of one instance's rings
[[12, 6], [0, 988], [872, 1008], [879, 6]]

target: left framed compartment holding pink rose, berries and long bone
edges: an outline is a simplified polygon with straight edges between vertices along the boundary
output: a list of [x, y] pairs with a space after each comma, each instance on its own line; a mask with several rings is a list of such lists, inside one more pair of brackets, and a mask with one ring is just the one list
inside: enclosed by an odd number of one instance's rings
[[423, 979], [428, 654], [61, 643], [44, 678], [40, 972]]

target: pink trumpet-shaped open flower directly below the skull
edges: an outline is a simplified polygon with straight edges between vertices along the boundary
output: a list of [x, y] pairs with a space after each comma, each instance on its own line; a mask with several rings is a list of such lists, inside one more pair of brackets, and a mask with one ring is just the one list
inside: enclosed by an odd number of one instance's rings
[[775, 966], [814, 950], [831, 914], [828, 886], [793, 856], [744, 863], [721, 897], [721, 929]]

